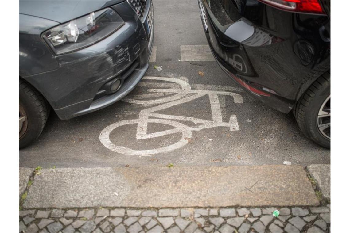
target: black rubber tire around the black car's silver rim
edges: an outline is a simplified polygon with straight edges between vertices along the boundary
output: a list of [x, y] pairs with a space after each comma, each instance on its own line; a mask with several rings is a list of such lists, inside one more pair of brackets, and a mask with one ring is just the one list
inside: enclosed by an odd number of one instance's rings
[[330, 97], [330, 71], [321, 75], [309, 87], [294, 108], [294, 116], [301, 131], [309, 139], [326, 148], [330, 148], [330, 126], [329, 138], [327, 138], [318, 129], [317, 116], [322, 104], [328, 97]]

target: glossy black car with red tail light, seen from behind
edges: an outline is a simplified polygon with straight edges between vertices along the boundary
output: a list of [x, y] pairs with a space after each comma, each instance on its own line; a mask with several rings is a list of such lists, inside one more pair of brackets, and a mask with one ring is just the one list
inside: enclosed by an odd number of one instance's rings
[[210, 49], [261, 102], [330, 147], [330, 1], [198, 0]]

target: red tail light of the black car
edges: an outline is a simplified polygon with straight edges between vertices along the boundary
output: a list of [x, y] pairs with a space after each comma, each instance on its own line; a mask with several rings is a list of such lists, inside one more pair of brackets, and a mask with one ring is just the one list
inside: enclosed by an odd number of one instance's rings
[[259, 0], [269, 6], [298, 13], [324, 14], [318, 0]]

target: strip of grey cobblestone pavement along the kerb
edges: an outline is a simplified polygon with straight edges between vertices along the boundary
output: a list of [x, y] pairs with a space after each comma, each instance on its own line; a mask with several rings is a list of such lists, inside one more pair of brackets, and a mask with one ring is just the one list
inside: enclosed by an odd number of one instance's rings
[[[273, 217], [274, 210], [280, 211]], [[222, 209], [45, 209], [19, 212], [20, 232], [330, 232], [330, 205]]]

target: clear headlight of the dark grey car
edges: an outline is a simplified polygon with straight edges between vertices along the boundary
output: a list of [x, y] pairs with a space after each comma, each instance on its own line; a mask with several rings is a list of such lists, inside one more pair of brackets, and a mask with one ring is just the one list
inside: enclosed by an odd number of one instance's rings
[[43, 33], [44, 40], [59, 55], [82, 49], [109, 36], [124, 20], [111, 8], [91, 12]]

